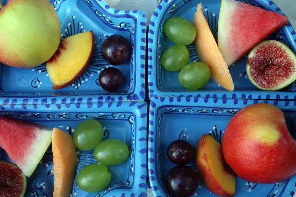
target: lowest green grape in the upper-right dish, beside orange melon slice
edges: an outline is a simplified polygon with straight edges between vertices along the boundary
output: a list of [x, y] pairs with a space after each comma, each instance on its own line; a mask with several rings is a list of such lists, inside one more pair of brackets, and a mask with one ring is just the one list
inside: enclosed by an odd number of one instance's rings
[[210, 77], [209, 66], [203, 62], [192, 62], [179, 72], [178, 81], [186, 89], [195, 90], [206, 85]]

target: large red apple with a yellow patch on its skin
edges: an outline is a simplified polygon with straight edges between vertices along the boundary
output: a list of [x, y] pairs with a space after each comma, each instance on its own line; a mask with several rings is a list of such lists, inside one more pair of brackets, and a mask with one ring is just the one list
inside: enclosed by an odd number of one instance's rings
[[296, 141], [283, 112], [270, 104], [253, 104], [238, 111], [222, 138], [226, 162], [242, 179], [278, 183], [296, 174]]

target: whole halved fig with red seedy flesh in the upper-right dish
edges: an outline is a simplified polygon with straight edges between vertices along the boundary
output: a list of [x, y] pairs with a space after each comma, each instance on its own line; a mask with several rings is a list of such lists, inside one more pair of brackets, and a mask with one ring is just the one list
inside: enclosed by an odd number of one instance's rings
[[249, 53], [246, 71], [260, 90], [280, 90], [296, 80], [296, 56], [282, 42], [264, 41]]

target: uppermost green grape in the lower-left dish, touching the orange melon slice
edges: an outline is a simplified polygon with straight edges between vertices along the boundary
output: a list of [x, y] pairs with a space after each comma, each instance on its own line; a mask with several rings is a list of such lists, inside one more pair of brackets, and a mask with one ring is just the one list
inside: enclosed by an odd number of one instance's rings
[[81, 122], [75, 129], [73, 140], [77, 148], [90, 150], [103, 139], [104, 129], [99, 121], [89, 119]]

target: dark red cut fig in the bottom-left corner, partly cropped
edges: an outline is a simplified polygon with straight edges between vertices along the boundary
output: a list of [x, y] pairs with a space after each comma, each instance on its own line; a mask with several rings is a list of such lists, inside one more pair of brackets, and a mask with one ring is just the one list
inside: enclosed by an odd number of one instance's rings
[[27, 177], [15, 164], [0, 161], [0, 196], [24, 197]]

